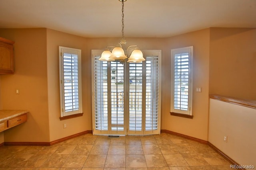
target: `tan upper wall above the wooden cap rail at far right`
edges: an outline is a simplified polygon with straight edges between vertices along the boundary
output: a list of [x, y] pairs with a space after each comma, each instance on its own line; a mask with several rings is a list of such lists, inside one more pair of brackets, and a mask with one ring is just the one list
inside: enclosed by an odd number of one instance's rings
[[256, 29], [210, 28], [210, 94], [256, 100]]

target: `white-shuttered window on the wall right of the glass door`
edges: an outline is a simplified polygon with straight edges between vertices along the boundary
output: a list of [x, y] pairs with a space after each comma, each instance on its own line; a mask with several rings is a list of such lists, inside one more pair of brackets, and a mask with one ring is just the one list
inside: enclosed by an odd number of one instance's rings
[[171, 115], [192, 118], [193, 46], [172, 49]]

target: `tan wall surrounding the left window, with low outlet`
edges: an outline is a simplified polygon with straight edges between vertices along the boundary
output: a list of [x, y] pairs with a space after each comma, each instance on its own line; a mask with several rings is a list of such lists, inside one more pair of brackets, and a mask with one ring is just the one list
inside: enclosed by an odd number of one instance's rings
[[[92, 105], [90, 82], [90, 55], [87, 55], [87, 39], [47, 29], [47, 75], [50, 141], [76, 133], [92, 130]], [[82, 117], [60, 121], [59, 46], [82, 51]], [[63, 124], [67, 128], [63, 128]]]

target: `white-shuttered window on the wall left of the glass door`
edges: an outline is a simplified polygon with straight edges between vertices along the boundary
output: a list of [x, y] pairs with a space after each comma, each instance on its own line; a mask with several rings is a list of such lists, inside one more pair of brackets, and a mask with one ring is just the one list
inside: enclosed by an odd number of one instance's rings
[[59, 47], [60, 117], [82, 113], [81, 50]]

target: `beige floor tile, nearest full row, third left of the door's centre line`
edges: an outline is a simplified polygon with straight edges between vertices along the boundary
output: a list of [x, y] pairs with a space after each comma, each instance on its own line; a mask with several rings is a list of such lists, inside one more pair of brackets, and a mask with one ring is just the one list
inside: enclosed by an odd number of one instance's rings
[[74, 154], [70, 155], [62, 168], [82, 168], [88, 155]]

